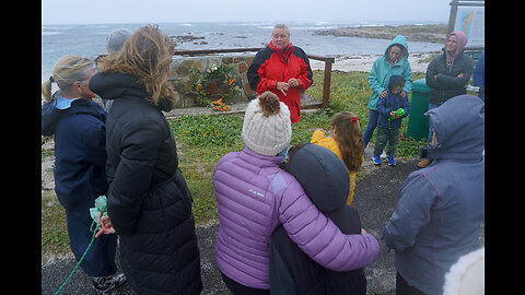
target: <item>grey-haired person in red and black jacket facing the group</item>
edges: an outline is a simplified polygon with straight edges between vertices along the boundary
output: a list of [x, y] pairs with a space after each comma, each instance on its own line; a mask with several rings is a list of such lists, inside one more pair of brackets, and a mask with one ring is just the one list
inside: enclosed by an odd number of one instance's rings
[[[271, 42], [255, 55], [248, 69], [252, 90], [260, 95], [271, 91], [290, 109], [292, 125], [301, 120], [301, 91], [312, 85], [312, 69], [306, 54], [290, 42], [290, 30], [285, 24], [277, 24], [271, 33]], [[281, 157], [287, 156], [287, 150]]]

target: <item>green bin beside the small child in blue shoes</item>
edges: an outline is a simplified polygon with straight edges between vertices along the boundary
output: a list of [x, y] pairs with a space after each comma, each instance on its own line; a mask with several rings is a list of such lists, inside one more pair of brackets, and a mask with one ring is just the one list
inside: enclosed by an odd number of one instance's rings
[[407, 138], [420, 141], [429, 137], [429, 117], [423, 114], [429, 110], [429, 95], [431, 91], [432, 88], [427, 86], [424, 78], [413, 81], [410, 114], [408, 114]]

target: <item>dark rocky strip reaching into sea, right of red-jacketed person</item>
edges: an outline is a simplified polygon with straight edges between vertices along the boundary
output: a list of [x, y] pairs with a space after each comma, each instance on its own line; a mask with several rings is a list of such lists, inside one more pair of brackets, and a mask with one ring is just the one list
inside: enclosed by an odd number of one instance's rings
[[409, 42], [445, 43], [446, 25], [399, 25], [399, 26], [358, 26], [318, 30], [315, 35], [338, 37], [359, 37], [375, 39], [393, 39], [404, 35]]

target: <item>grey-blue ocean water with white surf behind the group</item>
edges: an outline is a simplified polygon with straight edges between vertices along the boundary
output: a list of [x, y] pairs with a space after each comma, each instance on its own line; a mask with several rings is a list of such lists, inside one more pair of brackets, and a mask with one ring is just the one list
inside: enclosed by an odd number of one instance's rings
[[[405, 25], [416, 23], [388, 22], [289, 22], [291, 42], [306, 54], [317, 56], [378, 55], [385, 51], [390, 40], [355, 37], [320, 36], [316, 30], [363, 25]], [[417, 24], [435, 24], [419, 22]], [[62, 56], [82, 55], [95, 57], [105, 54], [105, 38], [116, 28], [136, 31], [145, 24], [85, 24], [85, 25], [42, 25], [42, 80], [48, 79], [52, 67]], [[271, 39], [275, 23], [159, 23], [168, 36], [192, 35], [203, 37], [183, 44], [175, 49], [221, 49], [262, 47]], [[409, 42], [410, 52], [440, 50], [442, 44]], [[255, 54], [255, 52], [254, 52]]]

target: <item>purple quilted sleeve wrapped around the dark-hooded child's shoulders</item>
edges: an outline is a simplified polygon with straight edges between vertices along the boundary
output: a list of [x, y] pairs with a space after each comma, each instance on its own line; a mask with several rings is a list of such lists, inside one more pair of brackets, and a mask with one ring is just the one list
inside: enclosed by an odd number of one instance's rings
[[317, 210], [296, 180], [283, 191], [279, 220], [301, 250], [334, 271], [369, 266], [380, 251], [377, 240], [370, 234], [343, 235]]

